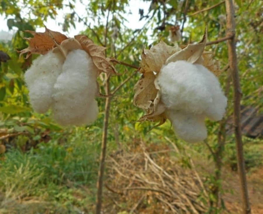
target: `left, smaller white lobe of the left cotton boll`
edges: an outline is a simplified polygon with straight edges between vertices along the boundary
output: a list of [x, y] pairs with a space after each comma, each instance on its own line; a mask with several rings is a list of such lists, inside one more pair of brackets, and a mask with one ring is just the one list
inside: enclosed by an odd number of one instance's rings
[[38, 113], [45, 113], [51, 103], [53, 86], [62, 71], [63, 56], [49, 51], [33, 61], [25, 73], [30, 103]]

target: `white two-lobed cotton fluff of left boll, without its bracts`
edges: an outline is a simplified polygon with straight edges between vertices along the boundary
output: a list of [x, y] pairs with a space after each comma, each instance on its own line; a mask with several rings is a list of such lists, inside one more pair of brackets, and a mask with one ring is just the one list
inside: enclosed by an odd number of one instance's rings
[[84, 50], [64, 57], [49, 51], [33, 61], [25, 73], [30, 102], [38, 113], [52, 109], [61, 125], [91, 124], [98, 115], [95, 100], [97, 69]]

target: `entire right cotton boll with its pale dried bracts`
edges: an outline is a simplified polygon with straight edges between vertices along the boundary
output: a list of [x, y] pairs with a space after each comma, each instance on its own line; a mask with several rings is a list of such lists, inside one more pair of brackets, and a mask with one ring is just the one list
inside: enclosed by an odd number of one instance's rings
[[139, 121], [171, 121], [187, 142], [207, 137], [205, 118], [221, 120], [227, 104], [217, 76], [219, 62], [205, 52], [207, 32], [198, 44], [173, 47], [161, 41], [141, 54], [142, 76], [134, 86], [134, 105], [146, 110]]

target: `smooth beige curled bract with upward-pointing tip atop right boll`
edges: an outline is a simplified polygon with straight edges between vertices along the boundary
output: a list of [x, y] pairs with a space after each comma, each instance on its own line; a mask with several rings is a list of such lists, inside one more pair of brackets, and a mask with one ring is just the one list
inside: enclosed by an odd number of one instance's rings
[[186, 48], [176, 52], [172, 56], [170, 56], [165, 65], [169, 64], [170, 62], [175, 62], [179, 60], [185, 60], [194, 64], [198, 59], [202, 56], [203, 51], [205, 49], [205, 42], [207, 39], [207, 29], [205, 28], [205, 34], [203, 39], [198, 44], [188, 44]]

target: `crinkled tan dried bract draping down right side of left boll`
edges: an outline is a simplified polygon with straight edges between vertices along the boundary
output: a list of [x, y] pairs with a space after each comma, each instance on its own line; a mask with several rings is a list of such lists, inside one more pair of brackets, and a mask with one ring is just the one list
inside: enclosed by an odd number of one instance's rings
[[105, 57], [104, 50], [107, 48], [94, 44], [94, 42], [85, 35], [76, 35], [74, 37], [81, 44], [82, 49], [91, 56], [95, 66], [100, 72], [116, 74], [115, 68]]

